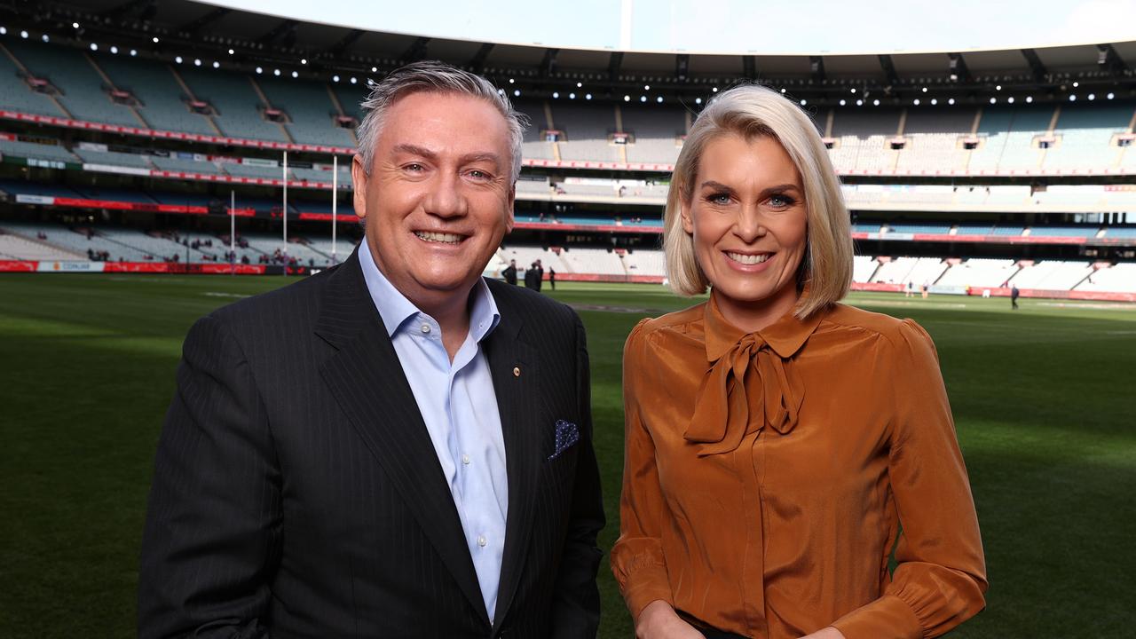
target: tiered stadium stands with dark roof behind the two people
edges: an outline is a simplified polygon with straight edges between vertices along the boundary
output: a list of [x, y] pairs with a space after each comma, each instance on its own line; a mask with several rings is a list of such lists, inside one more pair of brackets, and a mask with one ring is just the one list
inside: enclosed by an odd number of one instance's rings
[[1136, 299], [1136, 42], [561, 50], [185, 0], [0, 8], [0, 271], [304, 273], [341, 260], [360, 235], [348, 171], [359, 101], [369, 80], [427, 58], [485, 74], [532, 122], [517, 230], [491, 272], [542, 259], [560, 280], [662, 281], [662, 205], [685, 132], [717, 91], [761, 82], [799, 101], [830, 149], [855, 288]]

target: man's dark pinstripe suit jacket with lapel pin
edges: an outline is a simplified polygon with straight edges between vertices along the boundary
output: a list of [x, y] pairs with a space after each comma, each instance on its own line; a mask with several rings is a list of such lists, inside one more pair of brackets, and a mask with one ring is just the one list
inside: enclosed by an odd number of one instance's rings
[[[603, 509], [583, 326], [540, 294], [490, 289], [509, 476], [495, 619], [356, 254], [190, 331], [158, 445], [140, 636], [595, 637]], [[558, 420], [580, 437], [550, 459]]]

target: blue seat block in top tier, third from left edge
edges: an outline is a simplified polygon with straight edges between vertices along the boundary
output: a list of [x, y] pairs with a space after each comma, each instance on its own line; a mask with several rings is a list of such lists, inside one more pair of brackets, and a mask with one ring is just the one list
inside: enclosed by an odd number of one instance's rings
[[137, 113], [150, 128], [217, 134], [206, 116], [190, 110], [189, 96], [165, 64], [101, 52], [94, 60], [117, 89], [134, 94]]

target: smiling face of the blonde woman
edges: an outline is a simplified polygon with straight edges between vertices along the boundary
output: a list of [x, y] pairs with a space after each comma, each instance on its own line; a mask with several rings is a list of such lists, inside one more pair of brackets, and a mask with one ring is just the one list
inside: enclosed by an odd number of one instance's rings
[[702, 152], [683, 229], [732, 324], [758, 331], [792, 310], [807, 250], [804, 189], [776, 139], [735, 134]]

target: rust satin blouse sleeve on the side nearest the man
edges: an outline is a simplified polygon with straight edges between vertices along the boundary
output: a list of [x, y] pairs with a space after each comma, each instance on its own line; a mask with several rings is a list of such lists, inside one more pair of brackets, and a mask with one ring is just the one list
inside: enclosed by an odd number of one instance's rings
[[673, 604], [662, 554], [665, 503], [654, 462], [654, 443], [640, 418], [637, 381], [643, 371], [643, 320], [624, 347], [624, 486], [619, 500], [619, 539], [611, 549], [611, 571], [633, 619], [657, 599]]

